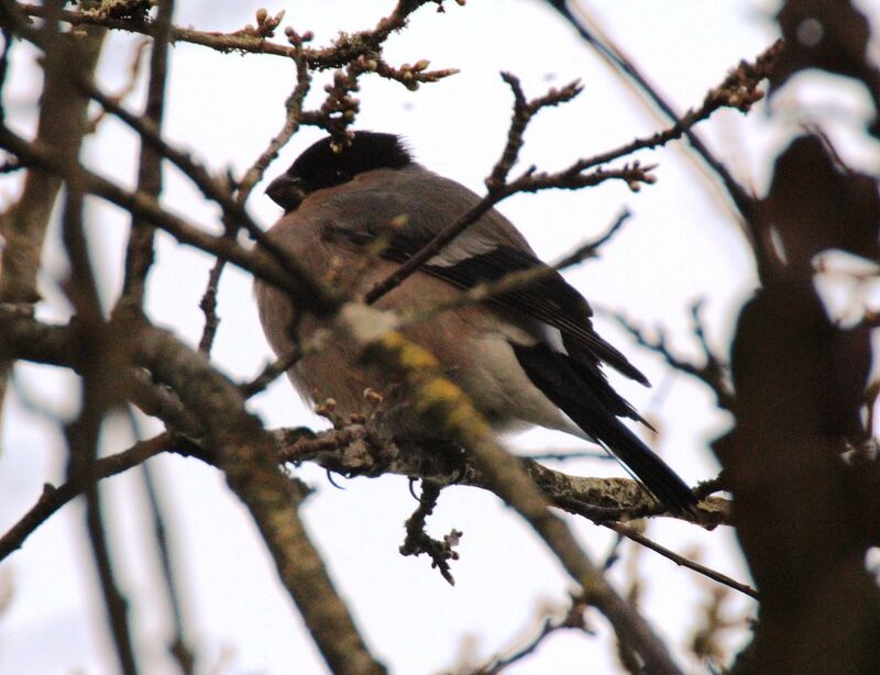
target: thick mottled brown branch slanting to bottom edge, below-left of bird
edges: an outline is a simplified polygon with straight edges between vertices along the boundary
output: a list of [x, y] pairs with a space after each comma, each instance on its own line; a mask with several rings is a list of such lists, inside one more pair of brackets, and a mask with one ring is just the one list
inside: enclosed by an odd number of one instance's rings
[[143, 332], [138, 361], [170, 386], [207, 424], [208, 443], [227, 483], [251, 511], [328, 666], [336, 672], [384, 673], [361, 638], [299, 520], [299, 497], [280, 473], [272, 436], [244, 409], [238, 389], [201, 355], [156, 329]]

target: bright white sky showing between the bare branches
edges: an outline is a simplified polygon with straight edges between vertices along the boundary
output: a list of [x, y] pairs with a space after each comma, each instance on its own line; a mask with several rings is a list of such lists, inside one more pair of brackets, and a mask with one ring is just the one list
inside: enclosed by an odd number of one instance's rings
[[[253, 22], [263, 3], [180, 0], [175, 22], [204, 30], [231, 31]], [[529, 96], [548, 86], [581, 78], [585, 90], [573, 103], [546, 111], [529, 129], [524, 165], [554, 169], [578, 157], [626, 143], [658, 129], [635, 99], [620, 87], [574, 30], [537, 0], [471, 0], [465, 8], [448, 1], [444, 14], [425, 8], [410, 29], [394, 36], [386, 57], [393, 64], [429, 58], [432, 67], [455, 67], [461, 74], [411, 93], [395, 84], [364, 79], [358, 128], [404, 134], [416, 156], [429, 168], [455, 178], [476, 191], [503, 147], [510, 117], [510, 95], [498, 77], [510, 70]], [[585, 3], [586, 4], [586, 3]], [[270, 12], [286, 9], [285, 25], [312, 30], [323, 44], [340, 30], [372, 26], [393, 5], [383, 2], [276, 2]], [[696, 106], [706, 89], [719, 82], [741, 58], [752, 58], [774, 38], [767, 3], [725, 0], [597, 1], [591, 11], [680, 110]], [[125, 77], [136, 37], [112, 35], [100, 69], [110, 91]], [[34, 124], [38, 70], [33, 52], [16, 48], [6, 103], [9, 119], [22, 130]], [[190, 148], [213, 170], [248, 167], [277, 132], [284, 100], [294, 84], [293, 66], [267, 56], [219, 55], [191, 45], [172, 51], [166, 135]], [[321, 86], [316, 85], [319, 100]], [[140, 93], [142, 95], [142, 88]], [[788, 95], [787, 95], [788, 96]], [[798, 93], [781, 99], [790, 109]], [[821, 99], [821, 93], [815, 95]], [[822, 102], [822, 100], [821, 100]], [[135, 101], [129, 101], [130, 107]], [[851, 100], [835, 101], [834, 133], [846, 139], [866, 106], [856, 91]], [[744, 180], [761, 185], [766, 159], [779, 147], [780, 131], [759, 107], [751, 118], [723, 112], [702, 131], [718, 155]], [[274, 177], [310, 145], [319, 133], [306, 130], [284, 151], [270, 173]], [[860, 156], [877, 162], [873, 154]], [[854, 151], [855, 154], [855, 151]], [[114, 120], [103, 122], [86, 147], [88, 163], [99, 171], [133, 184], [136, 141]], [[657, 185], [639, 193], [604, 185], [576, 193], [544, 192], [515, 197], [502, 210], [526, 233], [536, 250], [554, 258], [583, 240], [604, 231], [615, 213], [628, 206], [635, 218], [606, 248], [603, 257], [570, 273], [570, 280], [596, 306], [623, 308], [646, 328], [662, 325], [682, 354], [696, 355], [689, 338], [688, 305], [707, 298], [710, 338], [724, 353], [735, 320], [752, 284], [743, 237], [727, 212], [704, 189], [705, 184], [676, 151], [646, 154], [659, 163]], [[876, 167], [876, 165], [875, 165]], [[217, 228], [217, 209], [174, 169], [165, 174], [167, 208]], [[15, 178], [0, 181], [0, 207], [15, 196]], [[262, 195], [250, 208], [268, 226], [278, 209]], [[91, 244], [96, 265], [112, 302], [120, 287], [121, 256], [128, 221], [112, 208], [94, 203]], [[46, 250], [50, 275], [43, 291], [50, 301], [45, 317], [65, 317], [58, 289], [64, 259], [57, 237]], [[148, 312], [191, 343], [201, 332], [198, 300], [210, 261], [193, 250], [160, 237], [157, 264], [150, 277]], [[237, 378], [250, 378], [268, 361], [250, 290], [250, 279], [229, 269], [221, 286], [222, 318], [213, 351], [216, 363]], [[620, 383], [622, 390], [662, 432], [659, 452], [686, 480], [716, 472], [706, 443], [726, 427], [706, 390], [683, 377], [670, 376], [652, 355], [631, 345], [613, 324], [600, 319], [600, 331], [622, 346], [642, 368], [651, 390]], [[22, 367], [19, 379], [35, 398], [66, 416], [76, 410], [73, 378], [51, 368]], [[75, 389], [73, 389], [75, 390]], [[286, 380], [252, 401], [252, 409], [272, 427], [317, 424]], [[30, 507], [46, 480], [62, 477], [64, 447], [56, 428], [13, 398], [8, 402], [0, 456], [0, 527], [6, 529]], [[155, 425], [151, 427], [156, 429]], [[130, 444], [124, 423], [105, 429], [105, 452]], [[517, 439], [530, 449], [574, 446], [561, 434], [536, 431]], [[163, 482], [163, 496], [184, 582], [185, 613], [201, 672], [322, 673], [317, 655], [287, 594], [282, 589], [263, 544], [243, 508], [230, 496], [220, 474], [197, 461], [160, 457], [153, 461]], [[623, 475], [612, 463], [570, 462], [564, 471]], [[464, 531], [457, 579], [449, 587], [422, 558], [397, 553], [403, 521], [415, 508], [406, 480], [384, 477], [341, 483], [333, 488], [323, 472], [304, 467], [298, 474], [317, 494], [304, 509], [306, 522], [324, 554], [330, 572], [363, 629], [372, 649], [393, 672], [437, 673], [455, 663], [463, 645], [480, 662], [529, 627], [539, 608], [564, 605], [572, 586], [559, 565], [531, 535], [527, 525], [490, 494], [469, 488], [446, 490], [430, 520], [430, 532]], [[168, 635], [157, 564], [142, 532], [146, 529], [144, 495], [130, 476], [113, 478], [103, 488], [116, 544], [117, 571], [132, 600], [132, 619], [144, 671], [172, 673], [164, 653]], [[594, 558], [608, 549], [608, 534], [588, 522], [571, 520], [578, 538]], [[13, 598], [0, 615], [0, 673], [111, 673], [109, 638], [101, 618], [90, 554], [84, 539], [80, 505], [68, 506], [28, 540], [22, 551], [0, 566], [0, 586], [10, 584]], [[748, 580], [728, 529], [703, 532], [672, 521], [656, 521], [648, 534], [679, 552], [698, 554], [702, 562]], [[629, 556], [634, 544], [625, 544]], [[711, 583], [642, 551], [638, 560], [645, 580], [645, 613], [656, 630], [684, 660], [682, 645], [695, 624], [697, 606]], [[615, 567], [619, 582], [626, 565]], [[743, 598], [732, 597], [728, 609], [740, 615]], [[615, 672], [613, 649], [604, 620], [591, 611], [597, 637], [558, 634], [538, 654], [510, 673]], [[732, 644], [743, 638], [739, 632]], [[212, 667], [217, 671], [211, 671]]]

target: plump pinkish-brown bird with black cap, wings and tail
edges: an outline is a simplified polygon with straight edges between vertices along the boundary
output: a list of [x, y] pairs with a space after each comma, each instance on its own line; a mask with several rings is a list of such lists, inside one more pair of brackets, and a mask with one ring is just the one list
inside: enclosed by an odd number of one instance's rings
[[[314, 143], [266, 193], [284, 209], [268, 240], [314, 278], [348, 284], [355, 297], [480, 201], [417, 163], [400, 136], [374, 131], [355, 131], [348, 144], [330, 136]], [[597, 443], [668, 509], [691, 510], [696, 498], [688, 485], [622, 421], [647, 424], [603, 368], [646, 386], [648, 379], [595, 331], [586, 299], [494, 208], [375, 306], [402, 310], [452, 301], [477, 284], [538, 266], [546, 273], [534, 284], [413, 323], [405, 334], [435, 355], [493, 430], [537, 425]], [[254, 291], [263, 330], [279, 355], [326, 321], [300, 311], [287, 289], [257, 279]], [[362, 412], [364, 391], [372, 389], [384, 397], [382, 423], [394, 438], [438, 440], [392, 375], [364, 366], [343, 340], [329, 340], [288, 372], [306, 400], [332, 399], [344, 417]]]

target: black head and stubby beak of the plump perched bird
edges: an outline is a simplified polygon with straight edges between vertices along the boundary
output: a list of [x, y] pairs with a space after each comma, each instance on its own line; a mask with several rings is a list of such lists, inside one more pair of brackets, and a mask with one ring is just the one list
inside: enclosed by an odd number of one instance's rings
[[413, 163], [400, 136], [356, 131], [350, 143], [336, 147], [327, 136], [312, 144], [275, 178], [266, 195], [285, 211], [296, 210], [316, 190], [348, 182], [359, 174], [381, 168], [399, 169]]

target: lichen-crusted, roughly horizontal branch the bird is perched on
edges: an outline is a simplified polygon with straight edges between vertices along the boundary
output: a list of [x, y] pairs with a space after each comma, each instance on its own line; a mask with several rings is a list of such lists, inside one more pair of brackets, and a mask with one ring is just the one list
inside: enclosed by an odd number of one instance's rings
[[[82, 366], [79, 363], [80, 347], [77, 341], [77, 334], [68, 327], [45, 325], [26, 313], [16, 312], [14, 308], [0, 306], [0, 353], [3, 355], [80, 370]], [[294, 353], [288, 358], [296, 356]], [[287, 369], [288, 363], [279, 359], [270, 369], [272, 374], [278, 374]], [[172, 389], [157, 388], [140, 368], [133, 369], [131, 376], [127, 373], [129, 372], [123, 368], [119, 376], [127, 378], [122, 381], [128, 383], [128, 396], [147, 414], [160, 417], [194, 439], [205, 433], [202, 424], [190, 410], [184, 408], [180, 398]], [[242, 396], [250, 394], [253, 385], [244, 385], [241, 388]], [[378, 476], [382, 473], [393, 473], [426, 478], [440, 485], [490, 487], [488, 478], [472, 463], [450, 464], [448, 457], [451, 453], [436, 452], [431, 447], [398, 447], [369, 424], [349, 424], [309, 439], [284, 430], [275, 432], [274, 436], [277, 457], [282, 463], [316, 461], [343, 475]], [[663, 509], [657, 501], [634, 480], [569, 476], [528, 458], [521, 458], [520, 462], [554, 504], [576, 505], [579, 513], [596, 521], [663, 514]], [[676, 517], [712, 528], [727, 522], [729, 504], [723, 499], [708, 498], [693, 513]]]

